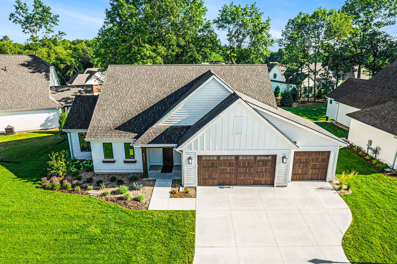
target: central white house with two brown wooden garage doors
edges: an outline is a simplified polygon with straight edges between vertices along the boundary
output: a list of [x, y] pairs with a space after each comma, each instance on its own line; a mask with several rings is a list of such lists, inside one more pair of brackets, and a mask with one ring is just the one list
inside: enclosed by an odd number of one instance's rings
[[333, 181], [347, 144], [278, 108], [268, 76], [266, 65], [110, 65], [97, 101], [71, 107], [71, 153], [95, 173], [171, 166], [184, 186]]

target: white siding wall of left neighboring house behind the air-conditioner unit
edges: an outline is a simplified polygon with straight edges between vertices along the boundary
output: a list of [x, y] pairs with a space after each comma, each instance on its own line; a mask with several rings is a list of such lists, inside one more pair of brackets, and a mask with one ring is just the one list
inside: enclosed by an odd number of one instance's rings
[[15, 131], [57, 128], [59, 112], [57, 108], [37, 110], [17, 110], [0, 112], [0, 133], [9, 124]]

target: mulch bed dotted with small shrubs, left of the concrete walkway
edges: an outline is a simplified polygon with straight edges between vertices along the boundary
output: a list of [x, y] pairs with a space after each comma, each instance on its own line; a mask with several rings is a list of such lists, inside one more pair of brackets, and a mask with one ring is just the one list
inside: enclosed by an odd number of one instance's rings
[[[65, 189], [62, 188], [59, 190], [59, 192], [62, 193], [71, 193], [71, 194], [78, 194], [78, 195], [89, 195], [91, 197], [95, 197], [98, 199], [101, 199], [103, 201], [106, 201], [108, 203], [114, 203], [116, 205], [120, 205], [121, 207], [124, 207], [126, 209], [133, 209], [133, 210], [147, 210], [149, 207], [150, 203], [150, 198], [152, 196], [153, 192], [153, 187], [154, 184], [156, 183], [156, 180], [145, 180], [143, 179], [143, 173], [138, 172], [138, 173], [127, 173], [127, 174], [95, 174], [93, 171], [85, 171], [79, 170], [79, 175], [81, 175], [81, 180], [79, 180], [79, 186], [81, 189], [79, 191], [76, 191], [75, 189]], [[138, 180], [136, 181], [131, 181], [130, 178], [131, 176], [136, 175], [138, 177]], [[47, 178], [49, 179], [52, 175], [48, 174]], [[121, 197], [123, 194], [118, 194], [117, 193], [117, 188], [119, 185], [116, 182], [111, 182], [110, 177], [115, 176], [118, 179], [122, 179], [124, 181], [125, 186], [128, 186], [129, 188], [129, 193], [131, 195], [131, 199], [129, 200], [124, 200]], [[93, 177], [93, 182], [87, 183], [86, 180], [89, 177]], [[67, 180], [68, 182], [73, 181], [73, 176], [71, 172], [69, 172], [64, 178], [60, 178], [60, 182], [62, 184], [62, 180]], [[103, 180], [103, 183], [106, 185], [106, 188], [103, 190], [99, 189], [99, 186], [96, 185], [96, 180]], [[136, 182], [141, 182], [143, 184], [143, 187], [140, 190], [133, 190], [132, 186]], [[87, 186], [93, 186], [93, 190], [88, 190]], [[43, 189], [44, 185], [40, 186]], [[52, 190], [52, 189], [50, 189]], [[110, 190], [110, 194], [108, 196], [105, 195], [105, 191]], [[135, 197], [139, 195], [144, 195], [145, 199], [142, 201], [136, 201]]]

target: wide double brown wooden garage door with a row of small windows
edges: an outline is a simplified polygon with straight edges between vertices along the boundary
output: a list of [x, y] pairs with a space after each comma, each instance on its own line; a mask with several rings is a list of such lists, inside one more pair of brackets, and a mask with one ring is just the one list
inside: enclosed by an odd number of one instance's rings
[[276, 155], [197, 156], [198, 185], [273, 185]]

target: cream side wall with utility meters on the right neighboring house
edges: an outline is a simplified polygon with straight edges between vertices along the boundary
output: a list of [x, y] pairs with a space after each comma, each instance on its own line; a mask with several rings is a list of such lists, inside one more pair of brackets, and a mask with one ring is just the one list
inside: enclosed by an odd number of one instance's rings
[[397, 161], [395, 160], [397, 138], [394, 138], [393, 135], [351, 119], [348, 139], [349, 142], [359, 145], [365, 151], [367, 150], [368, 140], [372, 140], [371, 147], [380, 147], [376, 158], [389, 166], [394, 165], [394, 168], [397, 168]]

